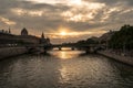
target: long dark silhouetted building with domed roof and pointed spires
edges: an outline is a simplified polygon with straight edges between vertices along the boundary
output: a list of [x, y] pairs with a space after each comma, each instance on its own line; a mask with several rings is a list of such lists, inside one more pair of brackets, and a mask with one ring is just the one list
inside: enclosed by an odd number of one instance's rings
[[50, 38], [45, 38], [42, 33], [41, 37], [37, 37], [34, 35], [29, 35], [28, 30], [24, 28], [21, 31], [21, 35], [11, 34], [11, 30], [9, 31], [1, 30], [0, 31], [0, 45], [27, 45], [27, 44], [50, 44]]

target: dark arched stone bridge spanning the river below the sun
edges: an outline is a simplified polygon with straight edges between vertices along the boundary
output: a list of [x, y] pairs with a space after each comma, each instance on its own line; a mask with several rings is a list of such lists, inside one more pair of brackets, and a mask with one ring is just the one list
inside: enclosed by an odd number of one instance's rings
[[78, 51], [85, 51], [85, 53], [95, 53], [99, 50], [98, 44], [89, 44], [89, 45], [78, 45], [78, 44], [51, 44], [51, 45], [30, 45], [27, 46], [27, 48], [30, 52], [35, 52], [35, 51], [43, 51], [47, 53], [48, 51], [51, 51], [53, 48], [58, 48], [59, 51], [63, 51], [63, 47], [70, 47], [71, 51], [78, 50]]

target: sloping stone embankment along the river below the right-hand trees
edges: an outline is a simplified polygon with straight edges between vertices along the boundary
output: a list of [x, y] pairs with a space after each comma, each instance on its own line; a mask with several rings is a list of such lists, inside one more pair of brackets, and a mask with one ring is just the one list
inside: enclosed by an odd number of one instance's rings
[[100, 51], [100, 52], [98, 52], [98, 54], [133, 66], [133, 57], [124, 56], [124, 55], [117, 55], [115, 53], [111, 53], [110, 51]]

